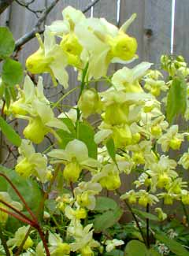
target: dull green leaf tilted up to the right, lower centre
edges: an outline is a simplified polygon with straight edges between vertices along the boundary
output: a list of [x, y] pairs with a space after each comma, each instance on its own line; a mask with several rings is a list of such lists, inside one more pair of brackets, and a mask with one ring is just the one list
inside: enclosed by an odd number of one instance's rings
[[95, 216], [95, 219], [92, 221], [94, 224], [95, 232], [102, 232], [106, 228], [112, 227], [113, 224], [116, 224], [119, 221], [123, 211], [117, 207], [115, 210], [108, 210], [102, 214]]

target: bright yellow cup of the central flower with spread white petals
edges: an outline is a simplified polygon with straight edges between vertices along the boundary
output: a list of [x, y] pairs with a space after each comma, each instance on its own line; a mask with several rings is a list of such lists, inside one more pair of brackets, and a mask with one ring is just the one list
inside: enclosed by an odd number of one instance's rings
[[82, 168], [77, 161], [71, 161], [65, 165], [63, 176], [69, 183], [76, 182], [80, 177], [81, 170]]

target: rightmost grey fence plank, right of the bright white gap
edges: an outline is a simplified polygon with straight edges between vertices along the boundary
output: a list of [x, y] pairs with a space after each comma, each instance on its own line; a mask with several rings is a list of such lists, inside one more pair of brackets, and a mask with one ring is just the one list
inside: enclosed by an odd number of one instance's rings
[[189, 2], [176, 1], [173, 53], [183, 55], [189, 61]]

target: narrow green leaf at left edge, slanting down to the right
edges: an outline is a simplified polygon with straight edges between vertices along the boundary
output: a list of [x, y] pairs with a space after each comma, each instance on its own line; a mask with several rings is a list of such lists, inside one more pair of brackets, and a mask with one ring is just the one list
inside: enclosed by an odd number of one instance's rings
[[6, 121], [2, 117], [0, 117], [0, 128], [2, 129], [2, 133], [6, 136], [6, 138], [9, 139], [10, 143], [13, 143], [13, 145], [17, 147], [20, 146], [20, 136], [9, 124], [6, 123]]

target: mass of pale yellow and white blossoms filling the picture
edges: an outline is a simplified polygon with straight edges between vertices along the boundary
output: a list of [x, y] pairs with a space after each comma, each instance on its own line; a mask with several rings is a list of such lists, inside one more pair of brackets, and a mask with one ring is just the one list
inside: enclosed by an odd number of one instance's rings
[[[72, 253], [94, 256], [123, 246], [124, 241], [117, 237], [107, 235], [105, 240], [95, 239], [96, 226], [91, 214], [99, 208], [102, 212], [110, 209], [113, 214], [117, 209], [98, 206], [98, 196], [102, 190], [119, 193], [124, 184], [122, 177], [132, 173], [135, 173], [132, 189], [124, 186], [120, 195], [127, 204], [139, 204], [144, 210], [155, 206], [160, 221], [167, 217], [159, 204], [161, 200], [169, 205], [174, 201], [182, 202], [183, 206], [189, 204], [187, 182], [180, 176], [182, 167], [189, 169], [189, 151], [178, 154], [189, 133], [172, 121], [179, 114], [186, 120], [189, 117], [189, 69], [183, 58], [162, 56], [161, 65], [169, 72], [168, 81], [149, 62], [128, 68], [125, 65], [137, 58], [136, 39], [127, 34], [135, 14], [120, 28], [103, 18], [87, 18], [71, 6], [62, 14], [63, 20], [46, 26], [44, 41], [36, 35], [39, 50], [28, 57], [26, 68], [33, 74], [50, 73], [54, 85], [60, 83], [67, 89], [66, 67], [72, 66], [80, 81], [77, 105], [55, 117], [57, 105], [52, 107], [43, 94], [42, 77], [39, 76], [35, 86], [26, 76], [24, 87], [18, 88], [17, 100], [7, 109], [9, 117], [28, 121], [18, 148], [20, 156], [15, 171], [25, 179], [37, 180], [45, 195], [50, 193], [46, 186], [50, 185], [51, 189], [54, 185], [54, 213], [63, 220], [60, 224], [59, 219], [52, 218], [57, 227], [46, 232], [47, 248], [41, 242], [33, 243], [35, 232], [31, 233], [24, 243], [27, 252], [23, 255], [45, 255], [46, 249], [54, 256]], [[109, 76], [111, 63], [124, 67]], [[99, 81], [107, 83], [108, 88], [98, 91]], [[171, 113], [169, 110], [165, 113], [165, 108], [170, 109], [174, 90], [178, 90], [176, 86], [183, 90], [178, 97], [183, 97], [186, 105], [181, 110], [174, 106]], [[94, 114], [99, 119], [95, 129], [90, 124]], [[36, 153], [32, 143], [42, 143], [48, 133], [54, 135], [56, 148], [48, 147], [45, 152]], [[176, 157], [171, 158], [170, 152], [176, 152]], [[8, 195], [6, 198], [15, 204]], [[48, 208], [45, 210], [49, 212], [47, 219], [54, 215]], [[3, 214], [0, 212], [0, 222], [6, 224], [7, 215]], [[28, 227], [18, 228], [8, 240], [10, 251], [20, 247], [27, 231]], [[158, 250], [164, 254], [169, 251], [161, 243]]]

